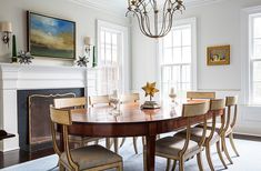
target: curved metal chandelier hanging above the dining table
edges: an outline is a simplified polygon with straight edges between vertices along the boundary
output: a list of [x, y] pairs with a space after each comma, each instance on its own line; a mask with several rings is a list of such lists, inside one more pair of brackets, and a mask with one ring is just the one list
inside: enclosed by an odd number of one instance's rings
[[126, 16], [135, 16], [141, 32], [150, 38], [162, 38], [168, 34], [172, 28], [174, 12], [182, 12], [185, 9], [182, 0], [164, 0], [162, 10], [159, 10], [159, 0], [128, 1]]

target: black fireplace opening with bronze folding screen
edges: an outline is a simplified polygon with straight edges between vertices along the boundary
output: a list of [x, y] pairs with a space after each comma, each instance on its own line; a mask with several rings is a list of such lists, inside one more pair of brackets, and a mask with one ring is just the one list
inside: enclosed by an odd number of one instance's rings
[[20, 149], [37, 151], [51, 143], [49, 105], [56, 98], [84, 95], [83, 88], [18, 90], [18, 133]]

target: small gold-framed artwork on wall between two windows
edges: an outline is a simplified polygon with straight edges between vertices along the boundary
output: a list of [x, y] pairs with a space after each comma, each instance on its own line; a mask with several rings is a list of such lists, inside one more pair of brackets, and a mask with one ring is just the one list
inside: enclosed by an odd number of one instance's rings
[[230, 46], [208, 47], [208, 66], [230, 64]]

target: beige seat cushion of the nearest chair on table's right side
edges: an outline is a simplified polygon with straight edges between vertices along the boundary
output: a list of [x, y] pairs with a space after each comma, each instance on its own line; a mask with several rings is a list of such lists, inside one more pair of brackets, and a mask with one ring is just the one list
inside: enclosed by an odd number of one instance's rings
[[[178, 157], [178, 153], [184, 147], [185, 139], [180, 137], [165, 137], [155, 141], [155, 152], [168, 154], [172, 157]], [[200, 148], [197, 142], [189, 141], [189, 147], [184, 153], [188, 155], [190, 153], [197, 154], [200, 151]]]

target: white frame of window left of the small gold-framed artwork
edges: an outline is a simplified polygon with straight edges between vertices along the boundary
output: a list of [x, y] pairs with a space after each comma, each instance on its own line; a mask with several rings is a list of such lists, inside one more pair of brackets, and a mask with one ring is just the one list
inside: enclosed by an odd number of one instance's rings
[[[173, 23], [173, 27], [180, 27], [180, 26], [191, 26], [191, 89], [197, 90], [198, 89], [198, 68], [197, 68], [197, 18], [188, 18], [188, 19], [180, 19], [175, 20]], [[161, 87], [161, 64], [160, 59], [162, 58], [162, 41], [158, 41], [157, 50], [158, 50], [158, 58], [157, 58], [157, 68], [158, 68], [158, 80], [160, 82], [160, 89]], [[162, 91], [161, 91], [162, 92]], [[160, 94], [162, 97], [162, 94]]]

